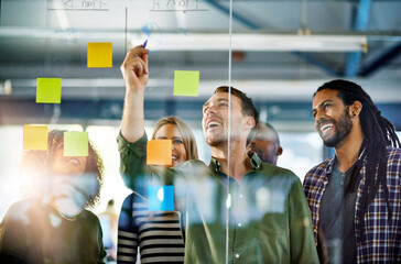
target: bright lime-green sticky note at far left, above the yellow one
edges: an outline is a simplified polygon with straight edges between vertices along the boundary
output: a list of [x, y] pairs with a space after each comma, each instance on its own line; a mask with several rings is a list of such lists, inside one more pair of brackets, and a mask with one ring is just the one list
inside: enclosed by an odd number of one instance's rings
[[36, 102], [59, 103], [62, 101], [61, 78], [36, 78]]

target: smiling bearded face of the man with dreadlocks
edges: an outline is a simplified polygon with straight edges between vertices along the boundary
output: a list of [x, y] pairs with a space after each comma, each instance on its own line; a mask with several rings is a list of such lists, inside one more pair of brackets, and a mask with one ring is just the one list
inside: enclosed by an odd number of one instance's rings
[[326, 146], [337, 147], [353, 130], [349, 107], [338, 97], [338, 90], [318, 91], [313, 99], [312, 116]]

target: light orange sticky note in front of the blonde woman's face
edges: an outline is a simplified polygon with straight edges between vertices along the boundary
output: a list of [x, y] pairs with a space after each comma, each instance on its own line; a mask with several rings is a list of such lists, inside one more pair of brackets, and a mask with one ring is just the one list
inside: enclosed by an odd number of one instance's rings
[[147, 147], [148, 165], [172, 165], [172, 141], [151, 140]]

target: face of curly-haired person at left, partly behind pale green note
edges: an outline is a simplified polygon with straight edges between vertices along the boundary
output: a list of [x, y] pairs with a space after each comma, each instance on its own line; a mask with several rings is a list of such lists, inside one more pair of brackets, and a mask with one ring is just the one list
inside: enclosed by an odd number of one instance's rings
[[61, 142], [53, 155], [53, 172], [57, 175], [82, 175], [87, 160], [86, 156], [64, 156], [64, 143]]

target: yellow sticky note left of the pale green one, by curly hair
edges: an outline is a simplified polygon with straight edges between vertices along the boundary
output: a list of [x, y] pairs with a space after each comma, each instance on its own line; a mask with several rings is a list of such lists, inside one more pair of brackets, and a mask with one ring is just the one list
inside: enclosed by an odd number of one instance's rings
[[23, 150], [47, 151], [47, 125], [23, 125]]

